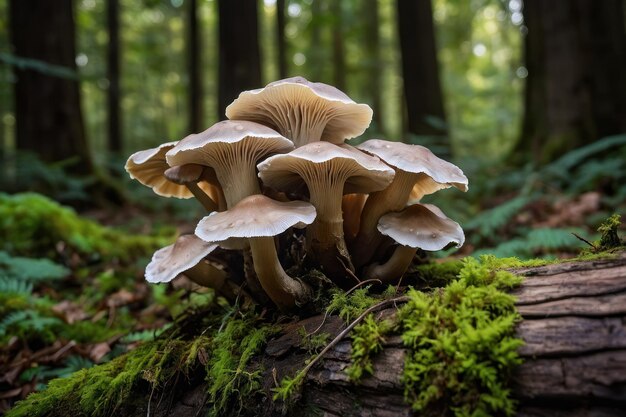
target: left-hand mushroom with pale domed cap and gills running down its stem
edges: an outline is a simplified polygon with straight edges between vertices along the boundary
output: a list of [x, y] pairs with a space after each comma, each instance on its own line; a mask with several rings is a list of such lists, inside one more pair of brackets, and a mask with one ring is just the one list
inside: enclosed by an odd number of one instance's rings
[[197, 164], [213, 168], [230, 209], [244, 197], [261, 194], [256, 173], [260, 159], [292, 149], [289, 139], [266, 126], [225, 120], [182, 139], [166, 158], [172, 166]]

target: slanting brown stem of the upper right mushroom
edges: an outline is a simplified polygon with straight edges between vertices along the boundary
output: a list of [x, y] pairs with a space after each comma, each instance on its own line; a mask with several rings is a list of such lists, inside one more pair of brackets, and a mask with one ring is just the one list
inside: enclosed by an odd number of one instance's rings
[[389, 187], [371, 193], [361, 213], [359, 233], [354, 239], [353, 259], [357, 268], [369, 263], [381, 242], [382, 235], [376, 226], [380, 217], [390, 211], [399, 211], [406, 205], [409, 194], [419, 174], [396, 168], [396, 175]]

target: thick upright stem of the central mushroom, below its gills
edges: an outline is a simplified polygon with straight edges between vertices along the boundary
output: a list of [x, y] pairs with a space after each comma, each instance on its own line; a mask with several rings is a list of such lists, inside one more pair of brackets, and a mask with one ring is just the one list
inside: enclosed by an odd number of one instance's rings
[[317, 217], [306, 229], [307, 249], [323, 266], [330, 278], [345, 276], [345, 269], [354, 272], [352, 260], [343, 235], [341, 201], [344, 180], [328, 182], [309, 181], [311, 204]]

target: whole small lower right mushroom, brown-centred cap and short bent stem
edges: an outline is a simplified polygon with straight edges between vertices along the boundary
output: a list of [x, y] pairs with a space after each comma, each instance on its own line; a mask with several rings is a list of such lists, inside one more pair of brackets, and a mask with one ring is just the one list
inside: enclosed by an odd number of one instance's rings
[[465, 242], [461, 226], [432, 204], [414, 204], [400, 212], [385, 214], [378, 222], [378, 230], [400, 244], [387, 262], [370, 265], [364, 271], [365, 279], [383, 282], [399, 280], [417, 249], [436, 251], [450, 243], [460, 247]]

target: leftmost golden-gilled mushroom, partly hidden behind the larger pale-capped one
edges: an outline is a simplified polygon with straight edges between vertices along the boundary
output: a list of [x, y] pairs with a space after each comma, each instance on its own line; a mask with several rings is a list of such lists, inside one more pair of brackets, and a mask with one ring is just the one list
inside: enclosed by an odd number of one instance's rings
[[219, 196], [219, 187], [215, 185], [215, 180], [211, 181], [211, 175], [205, 177], [201, 171], [191, 181], [172, 181], [172, 178], [165, 175], [170, 168], [165, 160], [165, 153], [175, 145], [176, 142], [167, 142], [156, 148], [135, 152], [128, 158], [124, 168], [131, 178], [152, 188], [160, 196], [196, 197], [208, 211], [216, 210], [214, 199]]

